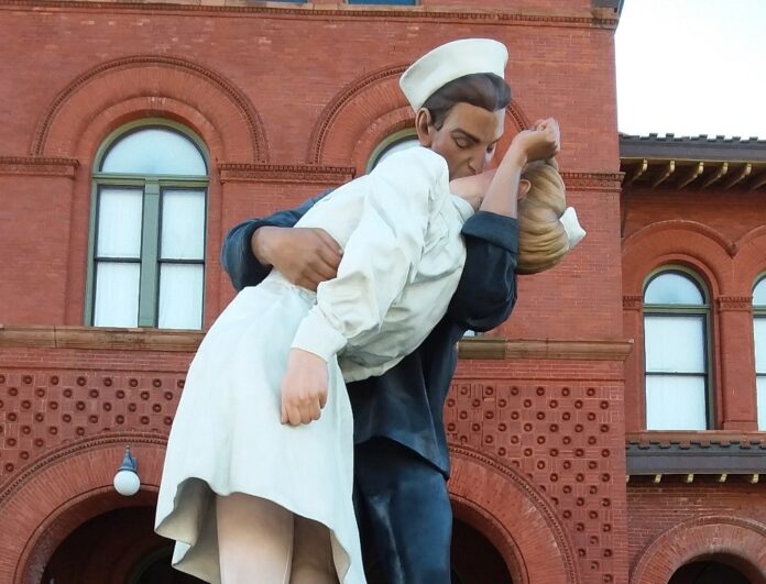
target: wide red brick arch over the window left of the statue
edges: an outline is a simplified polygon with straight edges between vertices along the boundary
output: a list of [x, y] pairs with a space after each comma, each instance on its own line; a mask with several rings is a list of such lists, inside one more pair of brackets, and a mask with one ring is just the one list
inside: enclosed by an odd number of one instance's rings
[[[133, 108], [120, 109], [123, 102]], [[37, 123], [31, 154], [74, 157], [83, 148], [80, 136], [91, 121], [116, 106], [113, 119], [122, 118], [120, 123], [131, 118], [167, 115], [188, 124], [206, 141], [212, 139], [208, 130], [215, 128], [217, 137], [212, 141], [220, 141], [220, 152], [216, 152], [220, 158], [269, 162], [263, 122], [242, 91], [195, 63], [157, 55], [110, 60], [73, 80]]]

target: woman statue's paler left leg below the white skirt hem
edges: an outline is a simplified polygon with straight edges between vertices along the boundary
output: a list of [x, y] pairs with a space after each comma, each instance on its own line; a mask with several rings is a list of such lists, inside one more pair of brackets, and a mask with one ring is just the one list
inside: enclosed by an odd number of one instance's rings
[[222, 584], [288, 584], [293, 514], [241, 493], [217, 497], [216, 505]]

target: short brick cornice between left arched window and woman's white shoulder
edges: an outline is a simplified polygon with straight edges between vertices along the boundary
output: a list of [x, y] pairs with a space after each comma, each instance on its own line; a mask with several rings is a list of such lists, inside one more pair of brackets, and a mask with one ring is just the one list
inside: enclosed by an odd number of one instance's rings
[[220, 164], [221, 183], [311, 183], [341, 185], [351, 180], [353, 166], [324, 166], [314, 164]]

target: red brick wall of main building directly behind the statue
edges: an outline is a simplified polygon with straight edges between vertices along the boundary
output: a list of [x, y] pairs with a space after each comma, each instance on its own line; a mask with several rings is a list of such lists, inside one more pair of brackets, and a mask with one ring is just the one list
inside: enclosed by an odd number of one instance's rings
[[[226, 231], [363, 172], [411, 121], [402, 68], [444, 41], [490, 36], [511, 53], [501, 150], [558, 118], [569, 201], [589, 232], [556, 269], [522, 278], [493, 334], [621, 340], [614, 21], [584, 0], [424, 5], [0, 5], [0, 58], [12, 64], [0, 84], [0, 253], [13, 258], [0, 322], [84, 322], [92, 165], [122, 124], [164, 117], [209, 150], [209, 324], [232, 296], [217, 263]], [[456, 516], [514, 582], [626, 582], [624, 355], [574, 353], [464, 361], [447, 405]], [[0, 573], [39, 580], [68, 533], [119, 508], [110, 482], [125, 442], [152, 505], [190, 355], [0, 348], [0, 517], [25, 518], [7, 532]]]

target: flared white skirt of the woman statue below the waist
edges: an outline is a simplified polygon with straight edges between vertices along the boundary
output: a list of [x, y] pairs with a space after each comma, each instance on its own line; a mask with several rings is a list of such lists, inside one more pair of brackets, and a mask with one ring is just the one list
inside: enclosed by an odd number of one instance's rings
[[176, 540], [178, 570], [220, 582], [215, 494], [245, 493], [327, 526], [340, 582], [364, 582], [351, 500], [353, 421], [337, 361], [319, 420], [280, 420], [289, 346], [315, 301], [313, 293], [270, 278], [244, 288], [200, 344], [157, 503], [156, 531]]

